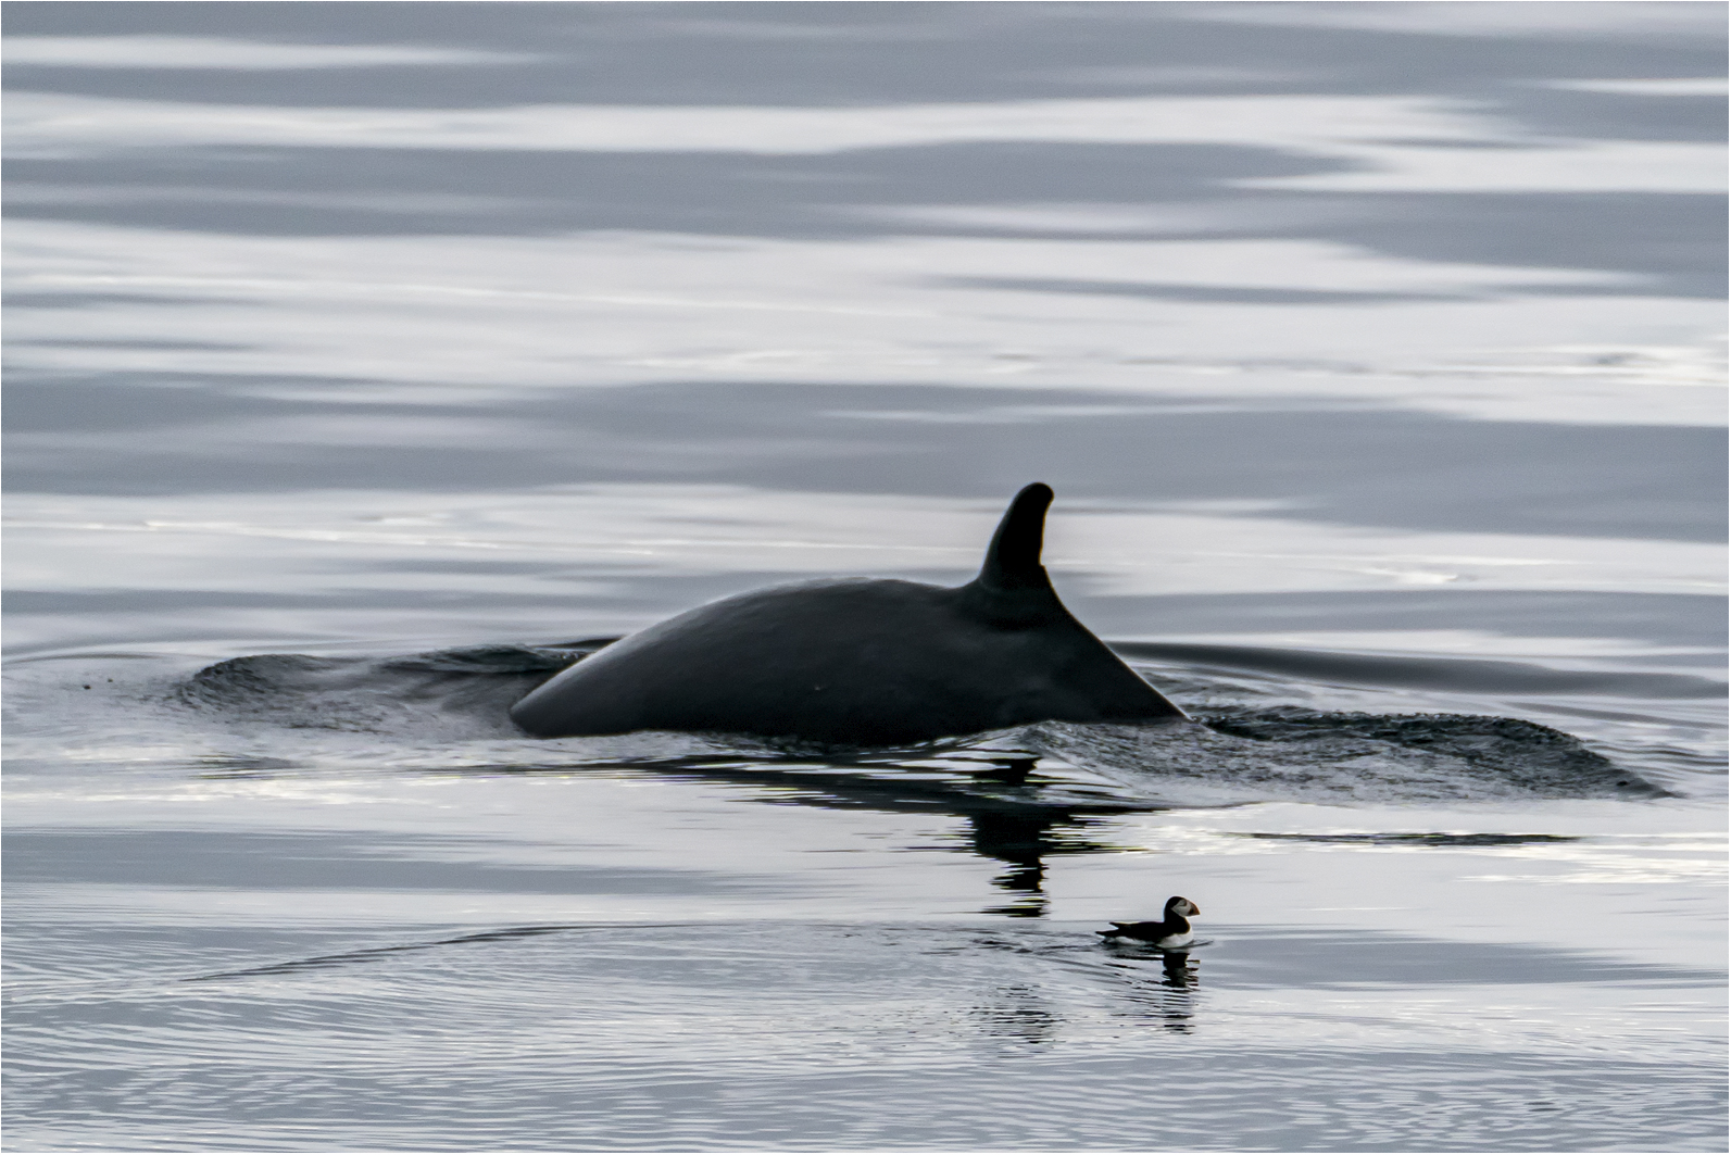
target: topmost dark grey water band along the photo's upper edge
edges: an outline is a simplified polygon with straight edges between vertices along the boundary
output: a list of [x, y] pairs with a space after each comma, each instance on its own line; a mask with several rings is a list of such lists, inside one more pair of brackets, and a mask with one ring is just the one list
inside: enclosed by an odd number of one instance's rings
[[[402, 9], [293, 3], [9, 5], [12, 36], [190, 35], [334, 45], [452, 45], [511, 54], [460, 64], [319, 69], [76, 68], [17, 62], [9, 87], [215, 104], [495, 107], [512, 104], [857, 106], [1113, 94], [1437, 94], [1477, 97], [1544, 135], [1594, 135], [1606, 94], [1525, 87], [1549, 78], [1715, 76], [1722, 19], [1629, 21], [1596, 33], [1558, 19], [1485, 29], [1236, 21], [1226, 7], [705, 3]], [[886, 54], [893, 54], [888, 55]], [[893, 66], [886, 62], [893, 61]], [[1229, 62], [1224, 68], [1215, 62]], [[1215, 64], [1208, 68], [1208, 64]], [[1593, 97], [1599, 97], [1594, 100]], [[1657, 132], [1669, 100], [1622, 97], [1598, 135]], [[1653, 106], [1660, 107], [1653, 107]], [[1591, 116], [1589, 116], [1591, 114]], [[1689, 123], [1688, 113], [1674, 114]], [[1676, 139], [1676, 137], [1665, 137]]]

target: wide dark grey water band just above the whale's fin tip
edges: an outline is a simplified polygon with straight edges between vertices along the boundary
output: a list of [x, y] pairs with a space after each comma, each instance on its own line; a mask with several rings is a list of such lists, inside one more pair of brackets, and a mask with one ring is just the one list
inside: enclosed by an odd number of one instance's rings
[[[158, 383], [199, 388], [137, 391], [119, 412], [170, 403], [177, 419], [147, 417], [164, 429], [329, 412], [324, 400], [249, 397], [268, 383], [249, 377]], [[28, 428], [104, 428], [113, 419], [81, 414], [135, 383], [24, 379], [24, 390], [35, 405]], [[149, 403], [137, 400], [145, 397]], [[1400, 530], [1724, 537], [1722, 429], [1464, 421], [1338, 402], [1232, 412], [1220, 397], [1163, 400], [1198, 400], [1205, 412], [1123, 412], [1122, 395], [1087, 390], [750, 381], [493, 397], [485, 414], [474, 405], [369, 402], [344, 412], [369, 428], [386, 414], [460, 419], [474, 423], [473, 440], [438, 454], [372, 436], [351, 447], [308, 440], [242, 454], [201, 435], [74, 452], [57, 438], [36, 447], [21, 429], [7, 478], [14, 490], [59, 494], [298, 490], [319, 478], [327, 488], [426, 494], [706, 481], [999, 499], [1042, 476], [1066, 500], [1258, 500], [1269, 502], [1260, 516]], [[222, 421], [211, 421], [206, 405]], [[1006, 409], [1021, 419], [1004, 421]]]

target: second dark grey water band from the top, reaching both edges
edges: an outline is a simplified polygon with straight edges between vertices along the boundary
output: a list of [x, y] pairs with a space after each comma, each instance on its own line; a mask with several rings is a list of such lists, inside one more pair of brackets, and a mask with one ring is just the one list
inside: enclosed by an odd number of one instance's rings
[[[9, 215], [253, 236], [561, 236], [649, 230], [864, 241], [964, 236], [1068, 241], [1314, 239], [1392, 258], [1627, 274], [1615, 286], [1530, 284], [1530, 296], [1724, 293], [1722, 197], [1693, 192], [1298, 192], [1245, 178], [1335, 171], [1336, 161], [1232, 145], [1058, 142], [737, 152], [466, 152], [422, 149], [154, 149], [102, 161], [16, 158]], [[199, 185], [185, 185], [187, 168]], [[175, 187], [180, 182], [180, 187]], [[1146, 222], [1075, 227], [923, 220], [919, 210], [1077, 203], [1144, 206]], [[1198, 216], [1198, 206], [1207, 206]], [[900, 210], [916, 210], [904, 213]], [[1037, 287], [1044, 282], [1026, 282]], [[1059, 289], [1065, 282], [1052, 282]], [[1177, 293], [1177, 289], [1174, 289]], [[1515, 289], [1503, 289], [1511, 293]], [[173, 289], [164, 289], [173, 294]], [[1343, 305], [1182, 286], [1182, 300]], [[1232, 298], [1232, 293], [1248, 296]], [[1201, 296], [1194, 296], [1201, 294]], [[38, 294], [45, 296], [45, 294]], [[88, 294], [85, 294], [88, 296]], [[97, 300], [88, 296], [88, 300]], [[113, 296], [119, 301], [123, 298]], [[156, 303], [173, 303], [166, 298]], [[1407, 296], [1406, 300], [1435, 300]], [[23, 300], [10, 300], [19, 306]], [[228, 305], [228, 301], [223, 301]], [[52, 301], [50, 301], [52, 306]]]

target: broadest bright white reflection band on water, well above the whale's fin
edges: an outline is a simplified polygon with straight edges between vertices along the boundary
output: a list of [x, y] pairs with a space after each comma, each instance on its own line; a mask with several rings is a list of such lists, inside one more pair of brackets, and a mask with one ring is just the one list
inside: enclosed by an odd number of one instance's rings
[[[14, 294], [83, 305], [12, 306], [23, 372], [161, 367], [325, 377], [348, 395], [493, 397], [670, 372], [1082, 381], [1504, 421], [1724, 421], [1717, 390], [1669, 388], [1722, 381], [1715, 301], [1618, 296], [1620, 279], [1599, 272], [1416, 261], [1322, 241], [268, 237], [31, 220], [7, 239]], [[1149, 270], [1162, 293], [1139, 294]], [[1212, 289], [1361, 296], [1220, 303]]]

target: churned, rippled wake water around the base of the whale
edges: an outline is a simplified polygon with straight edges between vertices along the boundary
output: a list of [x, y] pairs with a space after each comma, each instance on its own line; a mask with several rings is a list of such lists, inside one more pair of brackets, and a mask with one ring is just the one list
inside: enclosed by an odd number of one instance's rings
[[[254, 655], [196, 672], [170, 698], [267, 727], [488, 743], [448, 772], [609, 765], [796, 786], [826, 803], [962, 812], [1104, 812], [1260, 800], [1653, 798], [1665, 790], [1558, 729], [1471, 713], [1210, 705], [1187, 726], [1042, 722], [897, 750], [736, 734], [528, 739], [507, 708], [613, 639], [405, 656]], [[1302, 656], [1295, 658], [1303, 665]], [[507, 741], [505, 748], [495, 743]], [[483, 752], [476, 752], [483, 753]], [[251, 772], [251, 771], [248, 771]]]

